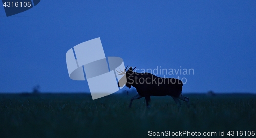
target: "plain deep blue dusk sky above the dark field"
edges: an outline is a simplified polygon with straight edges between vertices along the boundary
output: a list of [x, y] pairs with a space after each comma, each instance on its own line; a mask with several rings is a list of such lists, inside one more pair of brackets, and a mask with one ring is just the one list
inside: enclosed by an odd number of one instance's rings
[[194, 69], [184, 93], [256, 92], [256, 1], [41, 1], [0, 24], [0, 92], [89, 91], [65, 54], [97, 37], [125, 65]]

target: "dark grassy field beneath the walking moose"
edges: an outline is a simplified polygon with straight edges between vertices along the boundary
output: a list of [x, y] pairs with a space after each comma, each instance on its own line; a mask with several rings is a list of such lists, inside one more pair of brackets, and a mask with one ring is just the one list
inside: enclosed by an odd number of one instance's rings
[[[191, 106], [171, 97], [134, 100], [112, 94], [0, 94], [0, 137], [146, 137], [153, 132], [256, 130], [256, 96], [188, 95]], [[134, 96], [134, 95], [133, 95]]]

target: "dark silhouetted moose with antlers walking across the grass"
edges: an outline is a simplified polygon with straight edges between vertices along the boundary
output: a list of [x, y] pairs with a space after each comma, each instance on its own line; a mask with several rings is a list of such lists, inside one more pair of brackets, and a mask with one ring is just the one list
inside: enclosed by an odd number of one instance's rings
[[[183, 86], [181, 80], [175, 78], [161, 78], [151, 73], [137, 73], [134, 72], [132, 67], [127, 71], [126, 69], [124, 69], [124, 71], [120, 70], [121, 72], [116, 71], [119, 73], [118, 75], [124, 75], [118, 82], [119, 87], [126, 85], [131, 88], [131, 86], [133, 86], [138, 92], [138, 94], [131, 99], [129, 104], [130, 108], [133, 100], [142, 97], [145, 97], [146, 106], [147, 108], [150, 108], [150, 96], [172, 96], [178, 107], [181, 106], [180, 100], [183, 100], [188, 104], [189, 98], [181, 94]], [[126, 82], [126, 84], [124, 82]]]

